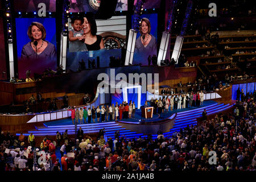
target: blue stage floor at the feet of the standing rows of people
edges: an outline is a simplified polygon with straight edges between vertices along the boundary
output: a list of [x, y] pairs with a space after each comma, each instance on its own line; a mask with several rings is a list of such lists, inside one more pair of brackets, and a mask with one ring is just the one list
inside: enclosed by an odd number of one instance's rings
[[[202, 106], [179, 109], [179, 110], [175, 110], [175, 111], [169, 111], [168, 113], [162, 113], [160, 115], [159, 114], [153, 114], [153, 117], [151, 119], [146, 119], [145, 121], [148, 121], [148, 122], [160, 121], [164, 118], [171, 117], [171, 115], [174, 114], [174, 113], [180, 113], [180, 112], [187, 111], [187, 110], [197, 109], [197, 108], [200, 108], [200, 107], [205, 107], [205, 106], [209, 106], [209, 105], [216, 104], [216, 103], [217, 102], [214, 102], [214, 101], [204, 101], [204, 105], [202, 105]], [[170, 107], [169, 107], [169, 110], [170, 110]], [[138, 122], [139, 119], [143, 119], [141, 117], [141, 109], [136, 110], [135, 118], [122, 119], [122, 121]], [[86, 122], [88, 122], [88, 118], [86, 119]], [[95, 122], [98, 123], [97, 118], [95, 119]], [[91, 123], [93, 123], [93, 120], [91, 121]], [[100, 123], [101, 123], [101, 118], [100, 118]], [[47, 125], [47, 126], [72, 125], [72, 119], [71, 118], [61, 119], [61, 120], [58, 120], [58, 121], [51, 121], [51, 122], [47, 122], [47, 123], [44, 123], [44, 124]]]

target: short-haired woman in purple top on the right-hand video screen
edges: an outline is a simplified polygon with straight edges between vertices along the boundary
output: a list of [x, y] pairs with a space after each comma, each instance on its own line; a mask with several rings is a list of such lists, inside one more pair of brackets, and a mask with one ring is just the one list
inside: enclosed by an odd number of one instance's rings
[[151, 24], [147, 18], [142, 18], [139, 26], [141, 36], [135, 42], [135, 52], [156, 55], [156, 39], [150, 34]]

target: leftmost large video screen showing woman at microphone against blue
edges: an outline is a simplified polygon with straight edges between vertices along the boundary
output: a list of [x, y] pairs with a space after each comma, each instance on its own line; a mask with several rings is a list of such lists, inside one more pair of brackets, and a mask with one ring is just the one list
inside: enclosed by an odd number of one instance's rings
[[16, 18], [18, 75], [40, 77], [46, 69], [56, 69], [55, 18]]

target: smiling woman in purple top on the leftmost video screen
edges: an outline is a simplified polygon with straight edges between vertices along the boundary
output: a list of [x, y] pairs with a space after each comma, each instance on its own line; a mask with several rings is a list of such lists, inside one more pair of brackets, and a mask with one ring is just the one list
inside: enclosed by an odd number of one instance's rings
[[27, 35], [31, 42], [23, 46], [22, 59], [56, 59], [56, 48], [46, 40], [46, 28], [42, 23], [32, 22]]

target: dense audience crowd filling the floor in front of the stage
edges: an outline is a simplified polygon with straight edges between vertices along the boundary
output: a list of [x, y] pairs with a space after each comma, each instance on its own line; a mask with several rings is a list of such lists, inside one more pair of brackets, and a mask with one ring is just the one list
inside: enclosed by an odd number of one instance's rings
[[[144, 138], [126, 139], [119, 136], [104, 139], [104, 129], [96, 140], [84, 136], [81, 128], [77, 140], [57, 132], [56, 142], [43, 139], [36, 149], [46, 151], [46, 163], [34, 166], [34, 135], [19, 138], [1, 133], [0, 165], [2, 171], [255, 171], [255, 92], [253, 96], [238, 97], [234, 110], [216, 114], [214, 118], [187, 126], [171, 136], [158, 132], [156, 139], [149, 134]], [[63, 144], [60, 144], [63, 143]], [[60, 147], [61, 146], [61, 147]], [[61, 159], [57, 159], [60, 147]], [[7, 150], [6, 150], [7, 148]], [[215, 152], [216, 163], [210, 164], [210, 152]]]

